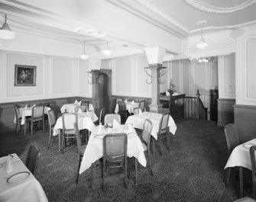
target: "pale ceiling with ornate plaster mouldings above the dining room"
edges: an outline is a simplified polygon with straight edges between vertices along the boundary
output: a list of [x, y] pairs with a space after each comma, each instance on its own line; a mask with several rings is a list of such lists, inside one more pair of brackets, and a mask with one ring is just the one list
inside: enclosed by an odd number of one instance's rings
[[158, 46], [157, 40], [148, 40], [148, 30], [170, 36], [170, 40], [184, 40], [199, 34], [198, 21], [207, 21], [204, 34], [256, 24], [256, 1], [0, 0], [0, 14], [0, 21], [8, 15], [13, 30], [74, 43], [86, 40], [86, 46], [95, 46], [97, 51], [105, 49], [105, 40], [109, 40], [112, 50], [132, 54]]

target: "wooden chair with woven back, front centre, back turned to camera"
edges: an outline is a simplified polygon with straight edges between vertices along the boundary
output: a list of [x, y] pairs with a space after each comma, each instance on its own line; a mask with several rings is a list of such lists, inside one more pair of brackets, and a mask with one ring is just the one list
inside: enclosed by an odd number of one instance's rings
[[105, 191], [107, 168], [125, 168], [125, 188], [127, 188], [127, 135], [125, 133], [106, 134], [103, 137], [102, 190]]

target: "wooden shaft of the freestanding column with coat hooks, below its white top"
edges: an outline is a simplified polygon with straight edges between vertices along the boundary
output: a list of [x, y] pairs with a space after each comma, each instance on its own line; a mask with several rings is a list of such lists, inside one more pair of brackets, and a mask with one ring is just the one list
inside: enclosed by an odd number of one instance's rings
[[163, 105], [160, 104], [159, 75], [160, 69], [165, 69], [162, 64], [151, 64], [146, 69], [151, 70], [151, 104], [148, 106], [151, 112], [162, 113]]

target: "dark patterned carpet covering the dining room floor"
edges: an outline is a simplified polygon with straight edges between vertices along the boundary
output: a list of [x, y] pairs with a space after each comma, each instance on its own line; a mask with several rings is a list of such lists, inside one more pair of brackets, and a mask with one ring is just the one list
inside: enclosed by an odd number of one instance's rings
[[[5, 134], [0, 136], [0, 156], [17, 153], [24, 161], [28, 144], [41, 146], [42, 156], [36, 178], [49, 201], [234, 201], [238, 198], [239, 181], [235, 169], [228, 188], [223, 182], [223, 168], [228, 159], [223, 127], [206, 120], [186, 120], [177, 124], [171, 137], [170, 151], [163, 156], [155, 152], [152, 177], [147, 168], [139, 166], [138, 187], [134, 186], [134, 169], [128, 188], [124, 175], [109, 175], [106, 191], [101, 188], [99, 166], [94, 168], [93, 188], [89, 188], [89, 171], [79, 176], [76, 146], [64, 154], [57, 141], [47, 149], [48, 133], [37, 131], [34, 136]], [[134, 162], [134, 161], [131, 161]], [[250, 181], [245, 178], [245, 195], [251, 196]]]

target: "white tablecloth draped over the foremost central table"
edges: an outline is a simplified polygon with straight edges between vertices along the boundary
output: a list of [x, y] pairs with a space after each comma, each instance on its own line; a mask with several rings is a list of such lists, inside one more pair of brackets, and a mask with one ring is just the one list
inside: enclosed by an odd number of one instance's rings
[[[106, 130], [102, 127], [102, 133], [99, 133], [99, 126], [92, 130], [92, 134], [89, 137], [88, 145], [86, 151], [83, 154], [83, 160], [81, 162], [81, 167], [79, 174], [83, 173], [88, 169], [93, 162], [96, 162], [98, 159], [103, 156], [103, 136]], [[138, 137], [134, 128], [132, 132], [128, 131], [128, 127], [125, 125], [120, 125], [118, 128], [113, 129], [112, 133], [127, 133], [128, 134], [128, 143], [127, 143], [127, 156], [135, 157], [138, 159], [138, 162], [141, 163], [144, 167], [147, 165], [147, 160], [144, 156], [144, 149], [141, 143], [141, 139]]]

